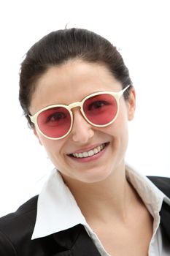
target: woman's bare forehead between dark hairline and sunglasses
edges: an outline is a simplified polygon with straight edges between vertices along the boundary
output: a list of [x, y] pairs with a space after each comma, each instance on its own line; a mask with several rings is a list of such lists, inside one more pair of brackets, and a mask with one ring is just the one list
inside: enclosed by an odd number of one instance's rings
[[53, 104], [77, 102], [96, 91], [119, 91], [121, 84], [109, 69], [97, 63], [67, 61], [50, 67], [36, 83], [31, 99], [31, 112]]

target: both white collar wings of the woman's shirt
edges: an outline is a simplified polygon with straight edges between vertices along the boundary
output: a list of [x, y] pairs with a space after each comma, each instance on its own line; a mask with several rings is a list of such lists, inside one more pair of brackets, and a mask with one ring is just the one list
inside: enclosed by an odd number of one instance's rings
[[[126, 166], [126, 176], [150, 213], [154, 215], [159, 212], [166, 195], [131, 167]], [[61, 174], [54, 169], [39, 194], [36, 224], [31, 239], [49, 236], [77, 224], [90, 228]]]

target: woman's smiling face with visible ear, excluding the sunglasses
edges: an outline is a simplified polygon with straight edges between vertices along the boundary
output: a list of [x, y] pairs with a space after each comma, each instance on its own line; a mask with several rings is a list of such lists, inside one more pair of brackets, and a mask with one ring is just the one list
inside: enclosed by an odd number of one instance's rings
[[[31, 99], [31, 114], [48, 105], [79, 102], [96, 91], [120, 91], [122, 86], [107, 67], [85, 61], [68, 61], [59, 67], [50, 67], [37, 81]], [[120, 98], [117, 119], [108, 127], [93, 127], [73, 108], [72, 131], [66, 138], [50, 140], [34, 129], [39, 142], [45, 146], [48, 156], [63, 175], [86, 183], [102, 181], [115, 170], [124, 167], [128, 144], [128, 120], [134, 117], [135, 93], [131, 91], [128, 101]], [[104, 146], [106, 145], [107, 146]], [[104, 148], [103, 148], [104, 147]], [[103, 148], [92, 157], [73, 157], [74, 153]], [[97, 151], [96, 151], [97, 152]], [[85, 154], [84, 154], [85, 155]]]

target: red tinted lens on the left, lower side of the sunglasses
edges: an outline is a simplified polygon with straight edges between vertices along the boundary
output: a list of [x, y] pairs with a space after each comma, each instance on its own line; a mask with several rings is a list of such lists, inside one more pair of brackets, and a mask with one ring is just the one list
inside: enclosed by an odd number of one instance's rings
[[71, 116], [66, 108], [49, 108], [39, 113], [37, 123], [42, 133], [48, 137], [60, 138], [70, 129]]

